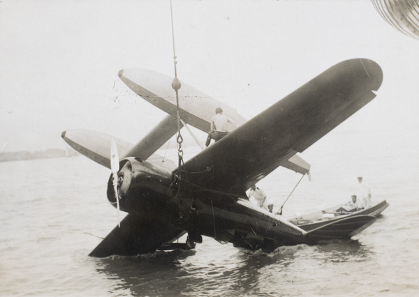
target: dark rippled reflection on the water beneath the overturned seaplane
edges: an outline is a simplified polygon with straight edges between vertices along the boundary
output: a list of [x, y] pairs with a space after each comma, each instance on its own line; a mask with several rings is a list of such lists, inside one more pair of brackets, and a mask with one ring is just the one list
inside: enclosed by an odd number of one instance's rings
[[114, 280], [112, 294], [281, 296], [295, 293], [296, 282], [314, 282], [318, 276], [307, 271], [320, 267], [328, 271], [330, 265], [341, 262], [365, 261], [371, 258], [371, 253], [359, 241], [281, 247], [265, 254], [219, 245], [207, 238], [197, 245], [196, 251], [155, 252], [95, 261], [96, 271]]

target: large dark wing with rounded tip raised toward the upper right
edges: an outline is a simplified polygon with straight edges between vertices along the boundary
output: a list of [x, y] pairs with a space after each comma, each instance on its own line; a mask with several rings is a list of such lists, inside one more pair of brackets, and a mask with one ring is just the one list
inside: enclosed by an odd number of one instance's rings
[[202, 188], [244, 195], [251, 183], [371, 101], [382, 80], [374, 61], [338, 63], [196, 155], [182, 170]]

